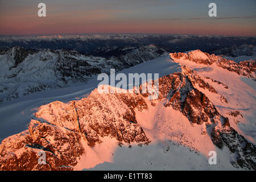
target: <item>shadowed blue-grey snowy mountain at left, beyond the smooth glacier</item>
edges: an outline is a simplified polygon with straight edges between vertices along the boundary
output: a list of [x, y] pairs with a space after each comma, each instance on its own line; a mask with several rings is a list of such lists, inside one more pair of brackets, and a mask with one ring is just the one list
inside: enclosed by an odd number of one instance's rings
[[[0, 103], [34, 92], [84, 84], [110, 68], [120, 71], [166, 54], [155, 45], [125, 47], [104, 58], [75, 50], [26, 50], [13, 47], [0, 55]], [[107, 56], [105, 56], [107, 57]]]

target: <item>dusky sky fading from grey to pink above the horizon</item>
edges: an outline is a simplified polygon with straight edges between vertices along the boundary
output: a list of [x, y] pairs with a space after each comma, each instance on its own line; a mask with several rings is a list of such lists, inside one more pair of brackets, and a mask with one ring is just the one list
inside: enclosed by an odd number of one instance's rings
[[0, 0], [0, 35], [100, 33], [256, 36], [256, 0]]

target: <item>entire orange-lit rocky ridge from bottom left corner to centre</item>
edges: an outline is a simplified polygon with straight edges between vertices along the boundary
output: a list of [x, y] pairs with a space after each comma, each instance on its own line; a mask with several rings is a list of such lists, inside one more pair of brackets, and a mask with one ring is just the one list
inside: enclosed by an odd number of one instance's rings
[[[134, 109], [147, 104], [137, 94], [99, 94], [94, 90], [80, 101], [52, 102], [40, 107], [27, 131], [0, 144], [1, 170], [72, 170], [86, 151], [82, 140], [93, 147], [111, 136], [119, 142], [148, 144], [137, 124]], [[47, 165], [38, 164], [45, 151]]]

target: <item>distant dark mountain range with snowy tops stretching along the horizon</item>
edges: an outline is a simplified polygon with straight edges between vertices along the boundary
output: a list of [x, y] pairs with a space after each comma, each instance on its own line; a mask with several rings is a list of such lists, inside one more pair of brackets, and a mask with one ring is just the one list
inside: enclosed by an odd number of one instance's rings
[[255, 37], [213, 36], [213, 35], [167, 35], [167, 34], [88, 34], [88, 35], [42, 35], [42, 36], [0, 36], [0, 48], [20, 46], [24, 48], [76, 49], [91, 53], [95, 49], [122, 48], [126, 46], [147, 46], [156, 44], [168, 52], [193, 49], [209, 51], [230, 45], [256, 46]]

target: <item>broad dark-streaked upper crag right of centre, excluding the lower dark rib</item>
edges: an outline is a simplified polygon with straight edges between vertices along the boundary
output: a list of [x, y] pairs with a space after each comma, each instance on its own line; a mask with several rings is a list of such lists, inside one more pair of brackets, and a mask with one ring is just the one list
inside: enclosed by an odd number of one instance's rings
[[165, 106], [172, 106], [183, 113], [192, 123], [208, 122], [209, 118], [220, 114], [204, 93], [195, 88], [195, 84], [209, 92], [218, 94], [213, 86], [209, 85], [195, 72], [182, 67], [183, 73], [174, 73], [159, 79], [159, 98], [166, 97]]

